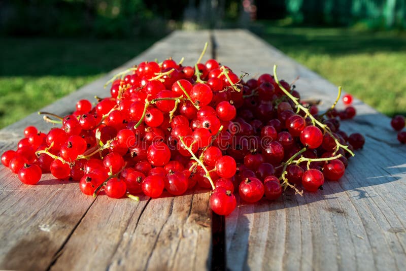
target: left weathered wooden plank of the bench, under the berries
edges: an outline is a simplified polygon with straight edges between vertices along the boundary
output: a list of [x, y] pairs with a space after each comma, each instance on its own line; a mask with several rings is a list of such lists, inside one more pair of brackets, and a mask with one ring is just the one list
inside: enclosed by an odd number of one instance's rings
[[[104, 84], [114, 74], [141, 61], [170, 56], [193, 65], [208, 31], [175, 31], [103, 78], [61, 98], [43, 111], [66, 115], [77, 100], [106, 96]], [[209, 48], [210, 52], [210, 48]], [[206, 54], [205, 59], [210, 58]], [[0, 152], [13, 149], [22, 130], [49, 130], [36, 113], [0, 130]], [[0, 166], [0, 269], [208, 269], [211, 264], [209, 194], [166, 197], [140, 202], [96, 199], [78, 184], [44, 176], [26, 186]]]

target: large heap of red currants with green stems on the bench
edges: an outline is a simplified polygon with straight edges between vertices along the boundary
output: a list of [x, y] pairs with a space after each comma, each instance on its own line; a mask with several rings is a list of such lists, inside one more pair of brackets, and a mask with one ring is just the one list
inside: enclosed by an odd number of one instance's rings
[[[28, 126], [17, 150], [2, 163], [21, 182], [43, 173], [79, 182], [86, 195], [156, 198], [212, 189], [210, 206], [220, 215], [236, 207], [234, 188], [246, 202], [274, 200], [286, 188], [314, 192], [339, 180], [359, 133], [340, 130], [334, 106], [317, 106], [276, 76], [243, 81], [216, 60], [183, 66], [172, 59], [142, 62], [111, 80], [110, 96], [93, 105], [44, 119], [48, 133]], [[345, 118], [355, 115], [347, 112]], [[343, 115], [344, 116], [344, 115]]]

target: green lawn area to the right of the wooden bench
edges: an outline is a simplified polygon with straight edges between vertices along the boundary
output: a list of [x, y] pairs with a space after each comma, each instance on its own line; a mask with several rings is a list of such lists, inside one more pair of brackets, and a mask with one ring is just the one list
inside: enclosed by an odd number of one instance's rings
[[[258, 35], [378, 111], [406, 115], [406, 33], [261, 23]], [[299, 83], [298, 83], [299, 84]]]

